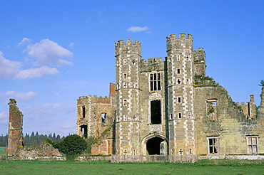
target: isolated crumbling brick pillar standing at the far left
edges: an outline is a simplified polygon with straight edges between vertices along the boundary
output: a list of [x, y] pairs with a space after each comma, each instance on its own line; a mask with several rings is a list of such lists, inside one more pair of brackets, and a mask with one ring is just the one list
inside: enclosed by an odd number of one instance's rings
[[24, 147], [23, 144], [23, 114], [16, 107], [16, 100], [9, 100], [9, 140], [8, 140], [8, 154], [19, 154], [19, 147]]

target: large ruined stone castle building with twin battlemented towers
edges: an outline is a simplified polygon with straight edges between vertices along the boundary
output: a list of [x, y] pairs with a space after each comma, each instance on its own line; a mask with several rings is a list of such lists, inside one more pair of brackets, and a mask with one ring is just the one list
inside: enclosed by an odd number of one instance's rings
[[95, 138], [92, 154], [264, 154], [261, 104], [235, 103], [206, 75], [193, 37], [166, 38], [167, 57], [141, 58], [141, 43], [115, 43], [116, 84], [108, 97], [77, 100], [77, 134]]

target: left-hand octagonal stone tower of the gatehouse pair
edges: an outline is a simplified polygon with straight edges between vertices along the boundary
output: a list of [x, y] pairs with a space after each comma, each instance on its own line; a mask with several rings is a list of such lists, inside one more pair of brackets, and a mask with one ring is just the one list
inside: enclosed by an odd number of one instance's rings
[[116, 42], [116, 154], [138, 154], [141, 43]]

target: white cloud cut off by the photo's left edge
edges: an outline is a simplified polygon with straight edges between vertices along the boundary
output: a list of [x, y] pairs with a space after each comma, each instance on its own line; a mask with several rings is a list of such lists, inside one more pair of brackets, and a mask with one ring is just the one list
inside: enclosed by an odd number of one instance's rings
[[19, 73], [22, 63], [19, 61], [11, 61], [4, 58], [0, 51], [0, 80], [13, 78]]

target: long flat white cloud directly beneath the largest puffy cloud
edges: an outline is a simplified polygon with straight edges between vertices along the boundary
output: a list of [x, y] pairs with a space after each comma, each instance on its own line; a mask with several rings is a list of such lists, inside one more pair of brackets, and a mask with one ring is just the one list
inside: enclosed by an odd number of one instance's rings
[[40, 68], [31, 68], [26, 70], [21, 70], [15, 78], [25, 80], [26, 78], [40, 78], [44, 75], [56, 75], [59, 70], [56, 68], [49, 68], [48, 66], [41, 66]]

